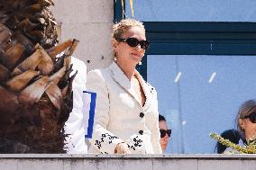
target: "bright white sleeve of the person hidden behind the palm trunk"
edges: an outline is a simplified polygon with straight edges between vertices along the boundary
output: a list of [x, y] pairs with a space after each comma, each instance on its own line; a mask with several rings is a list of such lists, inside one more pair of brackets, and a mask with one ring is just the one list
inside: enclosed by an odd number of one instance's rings
[[68, 154], [87, 154], [87, 144], [85, 142], [85, 129], [83, 123], [83, 91], [86, 90], [87, 66], [78, 58], [71, 58], [73, 64], [73, 74], [78, 70], [72, 83], [73, 110], [69, 114], [69, 120], [65, 123], [66, 149]]

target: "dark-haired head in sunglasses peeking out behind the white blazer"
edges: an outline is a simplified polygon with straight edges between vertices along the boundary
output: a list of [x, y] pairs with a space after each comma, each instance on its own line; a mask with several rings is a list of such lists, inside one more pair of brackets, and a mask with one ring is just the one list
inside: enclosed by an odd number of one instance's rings
[[159, 115], [160, 147], [165, 151], [168, 145], [171, 130], [168, 130], [167, 122], [162, 115]]

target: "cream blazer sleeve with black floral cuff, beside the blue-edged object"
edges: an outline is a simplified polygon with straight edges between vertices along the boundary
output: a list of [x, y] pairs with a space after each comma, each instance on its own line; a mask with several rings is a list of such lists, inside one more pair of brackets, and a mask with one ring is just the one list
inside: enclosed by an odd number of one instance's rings
[[114, 148], [123, 140], [106, 130], [109, 121], [110, 101], [102, 71], [88, 72], [87, 91], [96, 93], [96, 112], [91, 147], [97, 148], [103, 154], [114, 154]]

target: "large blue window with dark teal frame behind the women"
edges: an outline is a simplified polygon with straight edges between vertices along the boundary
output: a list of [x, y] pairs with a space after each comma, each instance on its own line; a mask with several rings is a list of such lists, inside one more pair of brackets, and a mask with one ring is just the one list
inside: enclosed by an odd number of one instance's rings
[[255, 2], [133, 2], [151, 42], [138, 69], [173, 129], [167, 153], [214, 153], [209, 133], [235, 128], [240, 104], [256, 98]]

